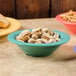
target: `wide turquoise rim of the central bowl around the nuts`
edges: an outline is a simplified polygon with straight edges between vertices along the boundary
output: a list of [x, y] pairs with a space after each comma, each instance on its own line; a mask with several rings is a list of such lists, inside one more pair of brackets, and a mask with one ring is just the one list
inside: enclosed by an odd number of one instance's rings
[[[32, 29], [28, 29], [28, 30], [32, 30]], [[16, 40], [16, 36], [18, 36], [21, 31], [23, 30], [20, 30], [20, 31], [16, 31], [16, 32], [13, 32], [11, 34], [9, 34], [7, 36], [7, 39], [14, 43], [14, 44], [17, 44], [17, 45], [26, 45], [26, 46], [45, 46], [45, 47], [48, 47], [48, 46], [57, 46], [57, 45], [61, 45], [61, 44], [64, 44], [66, 42], [68, 42], [70, 40], [70, 36], [64, 32], [61, 32], [61, 31], [57, 31], [57, 30], [53, 30], [54, 32], [58, 33], [60, 36], [61, 36], [61, 40], [58, 41], [58, 42], [54, 42], [54, 43], [47, 43], [47, 44], [34, 44], [34, 43], [25, 43], [25, 42], [20, 42], [18, 40]]]

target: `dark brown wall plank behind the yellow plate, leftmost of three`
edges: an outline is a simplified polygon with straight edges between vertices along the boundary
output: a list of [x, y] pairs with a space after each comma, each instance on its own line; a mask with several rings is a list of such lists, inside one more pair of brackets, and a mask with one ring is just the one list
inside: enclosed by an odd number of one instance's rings
[[14, 0], [0, 0], [0, 13], [5, 16], [15, 16]]

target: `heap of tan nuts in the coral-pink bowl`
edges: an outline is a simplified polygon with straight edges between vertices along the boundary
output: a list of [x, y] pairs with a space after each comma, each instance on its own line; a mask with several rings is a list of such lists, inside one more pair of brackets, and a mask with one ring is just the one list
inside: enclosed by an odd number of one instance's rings
[[66, 21], [72, 21], [72, 22], [76, 22], [76, 13], [73, 12], [72, 10], [70, 10], [68, 13], [66, 14], [62, 14], [60, 15], [60, 17]]

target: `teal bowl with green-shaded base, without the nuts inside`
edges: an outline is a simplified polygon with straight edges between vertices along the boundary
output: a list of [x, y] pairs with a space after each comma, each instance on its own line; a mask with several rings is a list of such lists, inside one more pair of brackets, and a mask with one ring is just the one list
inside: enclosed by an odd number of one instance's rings
[[[51, 55], [57, 48], [59, 48], [62, 44], [69, 41], [70, 36], [64, 32], [56, 31], [60, 35], [60, 41], [54, 43], [47, 44], [34, 44], [34, 43], [25, 43], [16, 40], [16, 36], [18, 36], [23, 30], [13, 32], [8, 35], [8, 40], [14, 44], [17, 44], [25, 54], [34, 56], [34, 57], [43, 57]], [[31, 31], [31, 30], [30, 30]]]

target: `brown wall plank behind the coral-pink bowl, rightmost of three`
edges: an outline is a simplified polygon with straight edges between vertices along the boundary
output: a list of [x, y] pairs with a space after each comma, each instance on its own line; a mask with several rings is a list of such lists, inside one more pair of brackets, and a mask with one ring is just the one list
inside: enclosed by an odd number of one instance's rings
[[59, 13], [68, 10], [76, 11], [76, 0], [51, 0], [51, 16], [55, 17]]

